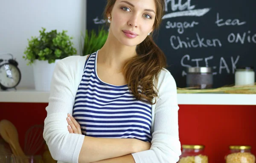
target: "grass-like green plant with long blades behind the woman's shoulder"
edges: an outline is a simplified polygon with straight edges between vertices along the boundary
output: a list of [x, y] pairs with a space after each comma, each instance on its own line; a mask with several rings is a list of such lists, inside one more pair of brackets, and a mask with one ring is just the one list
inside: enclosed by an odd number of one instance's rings
[[98, 29], [98, 33], [93, 29], [85, 31], [84, 46], [82, 55], [91, 54], [102, 48], [108, 38], [108, 31], [102, 27]]

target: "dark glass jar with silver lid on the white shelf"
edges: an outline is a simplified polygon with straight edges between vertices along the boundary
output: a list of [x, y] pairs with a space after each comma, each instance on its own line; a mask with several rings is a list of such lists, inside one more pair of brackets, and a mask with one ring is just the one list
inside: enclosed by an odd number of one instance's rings
[[190, 89], [210, 89], [213, 84], [211, 67], [188, 67], [186, 87]]

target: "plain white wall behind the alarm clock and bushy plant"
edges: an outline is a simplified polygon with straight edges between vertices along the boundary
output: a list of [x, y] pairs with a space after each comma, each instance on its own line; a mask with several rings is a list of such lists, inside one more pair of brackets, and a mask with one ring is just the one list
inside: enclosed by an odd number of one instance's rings
[[[0, 0], [0, 53], [12, 53], [21, 70], [20, 87], [34, 88], [32, 67], [22, 58], [27, 39], [47, 31], [67, 30], [80, 55], [81, 31], [85, 31], [86, 0]], [[0, 56], [7, 59], [6, 56]]]

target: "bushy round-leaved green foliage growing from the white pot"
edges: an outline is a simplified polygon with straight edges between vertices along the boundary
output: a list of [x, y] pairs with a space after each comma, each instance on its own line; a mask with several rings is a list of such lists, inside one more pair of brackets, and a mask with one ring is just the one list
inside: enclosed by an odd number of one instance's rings
[[32, 36], [30, 40], [28, 39], [28, 46], [23, 56], [25, 60], [28, 60], [27, 65], [32, 65], [36, 59], [54, 63], [55, 59], [63, 59], [77, 53], [71, 41], [73, 37], [69, 37], [67, 31], [46, 32], [46, 28], [42, 28], [39, 32], [39, 37]]

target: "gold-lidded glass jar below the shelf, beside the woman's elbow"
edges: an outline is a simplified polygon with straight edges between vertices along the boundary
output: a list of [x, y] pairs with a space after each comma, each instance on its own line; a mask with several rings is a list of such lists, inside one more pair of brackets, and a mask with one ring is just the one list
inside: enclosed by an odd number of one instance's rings
[[182, 153], [178, 163], [208, 163], [204, 153], [204, 145], [182, 145]]

